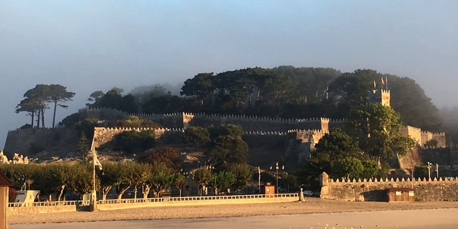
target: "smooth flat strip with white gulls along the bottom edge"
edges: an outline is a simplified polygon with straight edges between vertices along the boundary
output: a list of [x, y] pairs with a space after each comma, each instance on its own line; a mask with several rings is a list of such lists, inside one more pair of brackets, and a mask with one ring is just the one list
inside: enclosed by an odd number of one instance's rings
[[271, 215], [206, 219], [11, 224], [18, 228], [457, 228], [458, 209]]

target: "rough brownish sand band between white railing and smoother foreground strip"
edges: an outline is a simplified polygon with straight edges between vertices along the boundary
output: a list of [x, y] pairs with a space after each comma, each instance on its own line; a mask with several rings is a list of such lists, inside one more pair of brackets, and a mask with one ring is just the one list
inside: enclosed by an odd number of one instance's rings
[[458, 208], [458, 202], [343, 202], [306, 198], [304, 203], [216, 205], [193, 207], [139, 208], [98, 212], [64, 212], [9, 216], [9, 224], [44, 222], [84, 222], [134, 219], [198, 219], [228, 216], [290, 215], [309, 213], [367, 212], [389, 210]]

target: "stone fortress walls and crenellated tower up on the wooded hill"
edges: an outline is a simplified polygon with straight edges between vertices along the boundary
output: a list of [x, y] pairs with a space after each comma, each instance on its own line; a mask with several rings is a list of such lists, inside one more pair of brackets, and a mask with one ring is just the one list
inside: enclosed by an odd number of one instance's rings
[[[390, 106], [390, 91], [373, 90], [368, 92], [368, 100], [373, 103], [382, 103]], [[169, 114], [135, 114], [127, 113], [109, 108], [83, 108], [78, 111], [79, 119], [97, 120], [120, 120], [128, 116], [137, 116], [159, 123], [164, 128], [155, 130], [156, 136], [161, 136], [164, 132], [184, 132], [190, 126], [206, 127], [209, 125], [219, 126], [221, 124], [240, 125], [245, 134], [244, 140], [249, 148], [263, 145], [265, 149], [276, 147], [285, 158], [292, 157], [296, 163], [309, 158], [310, 151], [329, 130], [336, 127], [343, 127], [345, 120], [331, 120], [328, 118], [312, 119], [280, 119], [256, 116], [239, 115], [209, 115], [205, 113], [169, 113]], [[122, 131], [132, 130], [123, 128], [96, 128], [94, 136], [96, 146], [101, 146], [109, 141], [112, 136]], [[141, 131], [142, 129], [134, 129]], [[405, 136], [414, 138], [420, 147], [431, 139], [437, 140], [438, 148], [445, 148], [445, 133], [431, 133], [422, 131], [420, 128], [406, 126], [402, 129]], [[47, 144], [58, 144], [62, 139], [77, 139], [76, 133], [72, 133], [67, 128], [55, 129], [30, 129], [16, 130], [8, 133], [5, 144], [5, 152], [12, 154], [20, 152], [28, 156], [36, 142], [47, 142]], [[52, 142], [49, 142], [50, 139]], [[282, 143], [281, 143], [282, 142]], [[68, 145], [62, 144], [61, 145]], [[76, 142], [73, 143], [76, 147]], [[282, 146], [279, 146], [282, 145]], [[76, 148], [75, 148], [76, 149]], [[38, 150], [38, 149], [36, 149]], [[415, 162], [418, 163], [418, 162]], [[454, 162], [453, 162], [454, 163]], [[403, 164], [401, 167], [403, 167]], [[456, 162], [458, 164], [458, 162]], [[450, 166], [452, 163], [449, 164]]]

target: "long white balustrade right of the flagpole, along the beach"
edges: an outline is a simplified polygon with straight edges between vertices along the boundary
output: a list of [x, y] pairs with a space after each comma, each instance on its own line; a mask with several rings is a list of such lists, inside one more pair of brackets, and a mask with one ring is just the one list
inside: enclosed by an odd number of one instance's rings
[[186, 196], [164, 198], [137, 198], [137, 199], [105, 199], [99, 200], [98, 204], [134, 204], [154, 202], [190, 202], [190, 201], [214, 201], [222, 199], [261, 199], [261, 198], [288, 198], [298, 197], [298, 193], [281, 193], [267, 195], [213, 195], [213, 196]]

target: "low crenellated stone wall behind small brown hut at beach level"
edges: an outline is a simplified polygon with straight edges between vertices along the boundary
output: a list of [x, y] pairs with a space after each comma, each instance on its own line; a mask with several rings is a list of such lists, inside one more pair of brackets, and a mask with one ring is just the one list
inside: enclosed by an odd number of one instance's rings
[[[323, 176], [320, 176], [323, 177]], [[323, 178], [326, 179], [326, 178]], [[320, 198], [341, 201], [384, 201], [387, 188], [413, 188], [415, 198], [421, 201], [458, 200], [458, 178], [434, 180], [343, 180], [327, 179], [321, 181]]]

